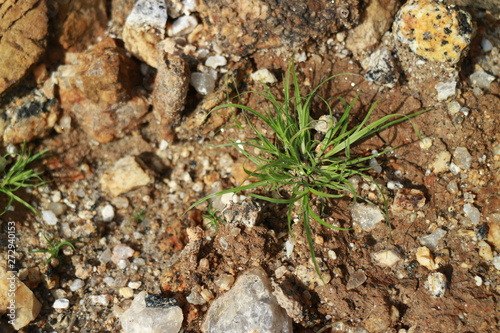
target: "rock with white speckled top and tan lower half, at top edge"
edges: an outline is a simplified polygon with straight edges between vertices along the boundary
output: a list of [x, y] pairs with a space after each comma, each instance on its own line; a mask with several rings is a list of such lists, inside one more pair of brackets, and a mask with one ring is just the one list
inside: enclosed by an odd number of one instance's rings
[[139, 0], [123, 27], [125, 48], [152, 67], [157, 67], [156, 45], [165, 38], [167, 25], [165, 0]]

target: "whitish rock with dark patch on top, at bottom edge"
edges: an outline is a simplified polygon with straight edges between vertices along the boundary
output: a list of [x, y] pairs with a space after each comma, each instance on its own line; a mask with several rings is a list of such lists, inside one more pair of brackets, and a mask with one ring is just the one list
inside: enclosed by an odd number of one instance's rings
[[173, 300], [141, 291], [119, 318], [125, 333], [177, 333], [184, 315]]

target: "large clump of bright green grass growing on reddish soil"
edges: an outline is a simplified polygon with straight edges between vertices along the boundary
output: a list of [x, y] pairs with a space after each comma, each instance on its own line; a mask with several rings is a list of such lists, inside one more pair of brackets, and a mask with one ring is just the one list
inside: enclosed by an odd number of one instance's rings
[[[300, 221], [304, 225], [312, 261], [319, 274], [311, 234], [311, 221], [314, 220], [332, 229], [349, 229], [332, 225], [321, 218], [321, 214], [315, 213], [313, 209], [312, 199], [318, 197], [320, 199], [337, 199], [351, 194], [355, 200], [357, 193], [349, 178], [358, 175], [365, 181], [374, 182], [365, 173], [373, 167], [369, 166], [367, 162], [393, 148], [368, 156], [354, 156], [351, 152], [352, 146], [387, 127], [427, 111], [423, 110], [411, 115], [391, 114], [370, 122], [371, 114], [377, 105], [375, 102], [370, 106], [361, 123], [349, 126], [349, 116], [357, 98], [348, 103], [339, 97], [345, 109], [336, 121], [329, 101], [317, 96], [316, 93], [325, 83], [339, 75], [345, 74], [334, 75], [326, 79], [309, 94], [303, 96], [300, 92], [294, 64], [291, 63], [284, 79], [283, 102], [278, 101], [267, 86], [264, 86], [265, 92], [253, 92], [267, 99], [272, 105], [271, 110], [257, 111], [237, 103], [227, 103], [215, 108], [214, 110], [233, 107], [245, 112], [246, 120], [253, 130], [255, 138], [246, 142], [231, 142], [223, 146], [234, 146], [257, 168], [254, 171], [245, 170], [251, 183], [208, 195], [195, 202], [190, 209], [208, 199], [226, 193], [266, 188], [270, 192], [281, 194], [282, 198], [267, 197], [255, 193], [251, 193], [250, 196], [276, 204], [288, 205], [287, 220], [290, 232], [294, 213], [300, 217]], [[329, 120], [327, 120], [328, 126], [326, 126], [323, 135], [318, 135], [315, 130], [318, 120], [311, 119], [311, 102], [315, 96], [323, 101], [330, 114]], [[263, 121], [272, 131], [273, 139], [262, 134], [252, 123], [249, 115]], [[295, 209], [295, 203], [299, 203], [298, 209]]]

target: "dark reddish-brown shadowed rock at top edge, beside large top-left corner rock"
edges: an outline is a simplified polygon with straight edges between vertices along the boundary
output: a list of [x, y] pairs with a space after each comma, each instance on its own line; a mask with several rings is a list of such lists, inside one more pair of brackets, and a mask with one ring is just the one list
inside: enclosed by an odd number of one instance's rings
[[65, 50], [84, 51], [104, 36], [108, 24], [106, 0], [54, 1], [54, 6], [57, 18], [53, 29]]

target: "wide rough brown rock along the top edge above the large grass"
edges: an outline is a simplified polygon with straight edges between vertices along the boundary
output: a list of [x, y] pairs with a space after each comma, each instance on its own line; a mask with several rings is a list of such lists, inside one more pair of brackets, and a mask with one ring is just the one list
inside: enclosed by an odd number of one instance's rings
[[[218, 45], [241, 56], [256, 50], [298, 49], [309, 40], [330, 38], [359, 20], [359, 1], [204, 1]], [[200, 9], [204, 11], [205, 9]]]

